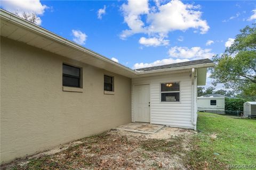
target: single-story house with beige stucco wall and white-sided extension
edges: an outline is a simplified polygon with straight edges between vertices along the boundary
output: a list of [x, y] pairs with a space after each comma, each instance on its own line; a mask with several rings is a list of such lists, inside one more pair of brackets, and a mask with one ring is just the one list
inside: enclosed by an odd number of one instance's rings
[[209, 59], [132, 70], [1, 10], [1, 163], [130, 122], [196, 129]]

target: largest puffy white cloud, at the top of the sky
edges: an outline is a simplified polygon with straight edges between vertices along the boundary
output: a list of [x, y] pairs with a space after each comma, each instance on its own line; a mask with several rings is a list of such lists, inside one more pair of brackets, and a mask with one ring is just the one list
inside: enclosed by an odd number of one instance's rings
[[187, 30], [189, 28], [200, 29], [206, 33], [209, 26], [205, 20], [201, 20], [202, 12], [196, 11], [198, 7], [183, 4], [181, 1], [173, 0], [161, 5], [156, 13], [149, 13], [148, 22], [150, 32], [168, 33], [173, 30]]

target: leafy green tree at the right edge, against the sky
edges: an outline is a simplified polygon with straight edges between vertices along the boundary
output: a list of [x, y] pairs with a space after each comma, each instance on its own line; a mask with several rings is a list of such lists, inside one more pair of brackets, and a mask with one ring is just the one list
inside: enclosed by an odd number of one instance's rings
[[234, 44], [222, 55], [214, 56], [217, 63], [212, 70], [213, 84], [223, 83], [226, 88], [246, 95], [256, 95], [256, 24], [246, 26], [236, 36]]

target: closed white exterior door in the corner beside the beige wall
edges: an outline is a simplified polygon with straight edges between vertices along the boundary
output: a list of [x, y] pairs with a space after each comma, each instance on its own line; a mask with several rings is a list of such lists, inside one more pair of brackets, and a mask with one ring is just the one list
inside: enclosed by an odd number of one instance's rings
[[134, 86], [134, 107], [135, 121], [149, 123], [149, 84]]

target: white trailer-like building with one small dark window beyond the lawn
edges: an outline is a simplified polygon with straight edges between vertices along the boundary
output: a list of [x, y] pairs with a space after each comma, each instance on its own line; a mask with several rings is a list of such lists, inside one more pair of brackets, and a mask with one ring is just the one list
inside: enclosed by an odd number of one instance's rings
[[198, 112], [225, 114], [225, 97], [219, 94], [207, 94], [197, 97]]

